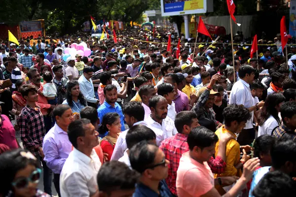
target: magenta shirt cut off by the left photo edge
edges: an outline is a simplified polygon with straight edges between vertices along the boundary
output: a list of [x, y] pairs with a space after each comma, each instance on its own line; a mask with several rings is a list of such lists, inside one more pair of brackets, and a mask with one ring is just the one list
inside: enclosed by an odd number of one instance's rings
[[9, 118], [5, 115], [1, 115], [0, 118], [0, 143], [7, 145], [10, 149], [18, 148], [15, 140], [15, 130]]

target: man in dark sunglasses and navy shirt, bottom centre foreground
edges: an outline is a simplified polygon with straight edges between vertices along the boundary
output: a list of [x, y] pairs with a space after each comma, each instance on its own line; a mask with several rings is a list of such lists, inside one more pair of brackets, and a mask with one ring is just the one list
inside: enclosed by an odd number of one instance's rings
[[170, 162], [162, 150], [141, 141], [130, 149], [129, 159], [132, 168], [141, 173], [133, 197], [172, 197], [165, 182]]

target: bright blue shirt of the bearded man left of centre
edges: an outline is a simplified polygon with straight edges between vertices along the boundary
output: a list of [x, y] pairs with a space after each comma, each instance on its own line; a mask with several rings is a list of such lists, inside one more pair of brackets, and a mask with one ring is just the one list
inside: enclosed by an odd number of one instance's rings
[[109, 112], [117, 113], [120, 117], [121, 131], [125, 131], [124, 127], [124, 116], [122, 114], [122, 109], [120, 105], [115, 102], [115, 106], [112, 107], [106, 100], [105, 102], [97, 109], [98, 117], [100, 118], [100, 122], [103, 122], [103, 117], [105, 114]]

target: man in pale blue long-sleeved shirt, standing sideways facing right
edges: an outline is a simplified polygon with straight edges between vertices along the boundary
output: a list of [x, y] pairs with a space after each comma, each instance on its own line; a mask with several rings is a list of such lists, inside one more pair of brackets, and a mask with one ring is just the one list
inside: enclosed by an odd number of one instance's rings
[[99, 104], [100, 101], [95, 97], [94, 85], [91, 80], [93, 71], [94, 70], [92, 67], [84, 66], [83, 74], [79, 77], [78, 83], [79, 83], [80, 92], [86, 99], [87, 105], [97, 108], [97, 105]]

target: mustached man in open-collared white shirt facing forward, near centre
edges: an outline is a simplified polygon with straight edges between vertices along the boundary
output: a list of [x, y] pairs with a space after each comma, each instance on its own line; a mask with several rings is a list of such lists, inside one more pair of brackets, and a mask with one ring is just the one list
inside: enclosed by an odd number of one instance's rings
[[177, 133], [174, 121], [167, 116], [168, 102], [159, 95], [149, 99], [149, 107], [151, 110], [150, 116], [145, 120], [149, 128], [154, 132], [159, 131], [163, 133], [163, 139], [169, 138]]

